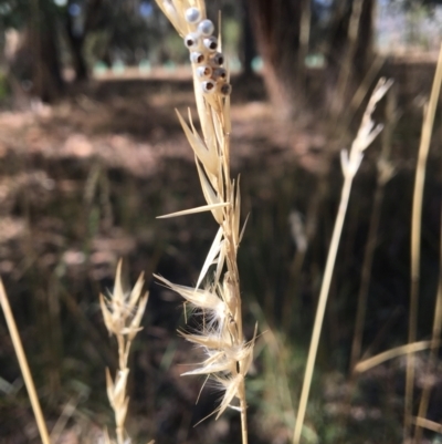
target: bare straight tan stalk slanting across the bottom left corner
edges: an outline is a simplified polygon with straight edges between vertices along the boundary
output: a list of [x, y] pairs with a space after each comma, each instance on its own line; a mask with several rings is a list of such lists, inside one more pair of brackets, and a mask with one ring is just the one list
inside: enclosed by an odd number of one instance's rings
[[50, 444], [50, 437], [44, 422], [43, 412], [40, 406], [39, 396], [35, 385], [32, 380], [32, 373], [28, 364], [28, 359], [21, 343], [19, 330], [17, 329], [15, 320], [12, 314], [11, 306], [9, 304], [7, 292], [4, 291], [3, 282], [0, 279], [0, 304], [7, 320], [9, 334], [11, 335], [12, 344], [15, 350], [17, 359], [20, 364], [20, 370], [23, 375], [24, 384], [27, 385], [28, 395], [31, 401], [32, 411], [34, 412], [36, 425], [39, 427], [40, 437], [43, 444]]

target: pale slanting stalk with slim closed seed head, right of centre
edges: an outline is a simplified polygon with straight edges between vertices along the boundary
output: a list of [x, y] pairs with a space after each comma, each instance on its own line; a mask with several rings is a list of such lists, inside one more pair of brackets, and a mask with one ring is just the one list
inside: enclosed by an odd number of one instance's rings
[[390, 85], [391, 81], [386, 81], [385, 79], [379, 80], [368, 102], [358, 134], [351, 144], [349, 153], [347, 151], [341, 151], [340, 159], [344, 174], [344, 185], [340, 196], [339, 209], [336, 217], [335, 227], [333, 230], [332, 242], [328, 249], [327, 262], [325, 267], [323, 283], [320, 287], [319, 301], [313, 328], [312, 341], [308, 350], [307, 364], [306, 364], [303, 389], [299, 400], [299, 407], [297, 412], [295, 431], [293, 436], [294, 444], [299, 443], [301, 433], [303, 430], [308, 394], [312, 385], [313, 371], [319, 344], [319, 337], [324, 321], [324, 313], [327, 304], [327, 298], [330, 288], [333, 269], [336, 261], [336, 255], [339, 246], [340, 235], [343, 233], [344, 220], [347, 213], [352, 179], [357, 171], [359, 169], [360, 163], [362, 162], [364, 151], [371, 144], [375, 137], [382, 130], [381, 125], [375, 126], [375, 123], [371, 120], [371, 114], [376, 109], [376, 104], [382, 99], [382, 96], [386, 94]]

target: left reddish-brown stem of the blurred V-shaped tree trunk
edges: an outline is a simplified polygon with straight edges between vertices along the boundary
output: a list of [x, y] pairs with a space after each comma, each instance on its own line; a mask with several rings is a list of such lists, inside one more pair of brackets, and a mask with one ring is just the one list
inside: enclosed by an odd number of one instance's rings
[[302, 16], [309, 0], [248, 0], [263, 78], [280, 117], [290, 120], [298, 94]]

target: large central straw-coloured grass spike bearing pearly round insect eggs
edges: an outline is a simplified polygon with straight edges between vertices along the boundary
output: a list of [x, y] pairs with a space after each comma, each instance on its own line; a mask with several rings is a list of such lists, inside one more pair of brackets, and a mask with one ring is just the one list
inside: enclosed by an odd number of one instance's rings
[[[253, 360], [256, 329], [250, 342], [242, 329], [240, 277], [236, 254], [242, 238], [240, 227], [240, 180], [230, 176], [230, 93], [229, 72], [224, 68], [221, 35], [206, 16], [203, 0], [156, 0], [190, 51], [200, 135], [189, 111], [188, 122], [178, 120], [193, 149], [197, 172], [207, 205], [161, 217], [211, 211], [219, 224], [194, 288], [175, 285], [157, 276], [164, 285], [180, 293], [201, 314], [201, 330], [181, 332], [200, 347], [206, 359], [198, 369], [185, 374], [207, 374], [225, 390], [215, 410], [219, 417], [228, 407], [241, 412], [242, 440], [248, 442], [244, 378]], [[201, 288], [201, 282], [209, 282]], [[236, 400], [236, 401], [235, 401]]]

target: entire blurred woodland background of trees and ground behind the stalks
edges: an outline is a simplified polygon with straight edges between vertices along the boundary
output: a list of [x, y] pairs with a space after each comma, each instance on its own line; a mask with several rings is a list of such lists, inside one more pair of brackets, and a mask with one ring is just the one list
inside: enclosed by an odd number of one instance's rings
[[[232, 169], [241, 173], [245, 332], [260, 335], [249, 378], [250, 441], [291, 442], [348, 148], [378, 78], [394, 80], [385, 131], [356, 177], [320, 341], [305, 443], [398, 443], [404, 358], [354, 364], [408, 341], [410, 233], [423, 109], [442, 34], [432, 0], [208, 0], [222, 11], [232, 72]], [[150, 299], [130, 362], [134, 442], [232, 444], [240, 419], [193, 425], [220, 394], [181, 378], [198, 350], [177, 337], [180, 298], [155, 271], [196, 282], [217, 227], [203, 205], [175, 109], [194, 114], [188, 50], [152, 0], [0, 0], [0, 275], [54, 443], [113, 430], [105, 368], [116, 344], [98, 293], [124, 259]], [[431, 338], [441, 244], [442, 120], [422, 213], [418, 340]], [[365, 270], [365, 275], [362, 273]], [[366, 300], [364, 324], [355, 327]], [[39, 436], [0, 317], [0, 443]], [[191, 327], [191, 324], [190, 324]], [[356, 343], [356, 345], [355, 345]], [[359, 351], [358, 351], [359, 347]], [[356, 348], [356, 349], [355, 349]], [[442, 361], [417, 359], [414, 413], [442, 421]], [[424, 431], [422, 443], [442, 443]]]

